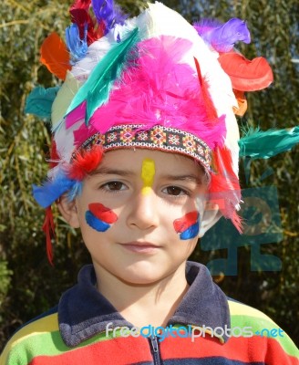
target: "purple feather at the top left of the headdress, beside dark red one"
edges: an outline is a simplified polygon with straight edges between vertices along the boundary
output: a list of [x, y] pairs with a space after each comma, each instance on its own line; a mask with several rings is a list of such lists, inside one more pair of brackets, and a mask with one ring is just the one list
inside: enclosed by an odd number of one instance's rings
[[114, 5], [113, 0], [92, 0], [92, 7], [97, 17], [98, 24], [104, 23], [104, 36], [115, 25], [121, 26], [125, 23], [127, 16], [125, 16], [118, 5]]

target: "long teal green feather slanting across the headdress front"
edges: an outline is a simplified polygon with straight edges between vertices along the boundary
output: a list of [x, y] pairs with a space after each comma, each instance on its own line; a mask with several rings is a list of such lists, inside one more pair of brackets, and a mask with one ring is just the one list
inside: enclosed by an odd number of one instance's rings
[[92, 70], [87, 82], [77, 91], [67, 109], [67, 114], [87, 101], [86, 124], [93, 113], [108, 101], [114, 81], [120, 77], [126, 65], [129, 50], [139, 41], [139, 29], [135, 28], [125, 40], [112, 47], [107, 55]]

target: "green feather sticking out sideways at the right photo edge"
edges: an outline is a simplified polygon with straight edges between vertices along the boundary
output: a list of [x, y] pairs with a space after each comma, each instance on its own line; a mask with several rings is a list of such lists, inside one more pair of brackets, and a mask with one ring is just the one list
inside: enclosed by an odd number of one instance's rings
[[240, 157], [268, 159], [278, 153], [291, 150], [299, 143], [299, 127], [287, 130], [260, 130], [259, 128], [243, 130], [244, 136], [239, 141]]

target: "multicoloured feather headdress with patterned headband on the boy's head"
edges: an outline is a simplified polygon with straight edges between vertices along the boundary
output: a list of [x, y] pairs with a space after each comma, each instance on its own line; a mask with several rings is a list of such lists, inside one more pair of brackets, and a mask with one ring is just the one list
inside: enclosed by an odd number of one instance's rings
[[[111, 0], [92, 2], [94, 22], [90, 1], [82, 4], [70, 7], [67, 47], [56, 33], [41, 47], [41, 61], [64, 83], [34, 89], [26, 104], [27, 112], [52, 120], [51, 170], [43, 186], [34, 186], [47, 212], [48, 247], [51, 204], [67, 192], [74, 199], [105, 151], [128, 148], [180, 153], [201, 163], [211, 199], [241, 231], [234, 114], [244, 112], [238, 104], [239, 99], [244, 105], [244, 91], [273, 80], [264, 59], [254, 82], [243, 78], [250, 61], [233, 47], [250, 42], [245, 22], [203, 20], [191, 26], [160, 3], [126, 19]], [[39, 106], [41, 94], [51, 110]]]

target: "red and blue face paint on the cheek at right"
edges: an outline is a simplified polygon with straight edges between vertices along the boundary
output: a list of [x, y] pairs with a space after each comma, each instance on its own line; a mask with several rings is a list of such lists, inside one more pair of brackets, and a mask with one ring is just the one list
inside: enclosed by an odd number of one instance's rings
[[178, 234], [180, 233], [181, 240], [191, 239], [199, 234], [199, 218], [198, 212], [193, 211], [173, 222], [174, 229]]

